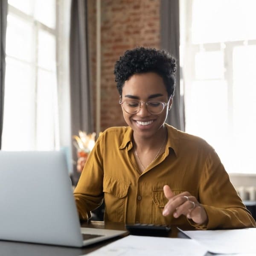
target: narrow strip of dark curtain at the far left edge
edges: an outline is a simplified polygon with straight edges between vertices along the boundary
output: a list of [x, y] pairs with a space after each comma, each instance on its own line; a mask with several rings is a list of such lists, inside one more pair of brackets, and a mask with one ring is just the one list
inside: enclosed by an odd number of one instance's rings
[[0, 149], [2, 146], [3, 132], [3, 100], [5, 80], [5, 49], [6, 49], [6, 26], [7, 26], [8, 1], [0, 0]]

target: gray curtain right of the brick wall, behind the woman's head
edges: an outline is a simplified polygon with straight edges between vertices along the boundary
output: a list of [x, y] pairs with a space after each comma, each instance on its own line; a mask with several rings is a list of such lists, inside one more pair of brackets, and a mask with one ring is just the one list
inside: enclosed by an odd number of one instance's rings
[[184, 100], [180, 96], [180, 22], [179, 0], [161, 0], [161, 48], [167, 50], [177, 59], [176, 89], [172, 109], [169, 111], [166, 122], [175, 128], [185, 131]]

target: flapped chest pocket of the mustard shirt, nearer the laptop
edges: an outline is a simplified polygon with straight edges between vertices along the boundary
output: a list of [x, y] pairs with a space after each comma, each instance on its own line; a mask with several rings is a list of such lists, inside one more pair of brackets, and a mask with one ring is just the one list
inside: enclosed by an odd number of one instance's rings
[[130, 183], [113, 177], [104, 177], [105, 221], [125, 222]]

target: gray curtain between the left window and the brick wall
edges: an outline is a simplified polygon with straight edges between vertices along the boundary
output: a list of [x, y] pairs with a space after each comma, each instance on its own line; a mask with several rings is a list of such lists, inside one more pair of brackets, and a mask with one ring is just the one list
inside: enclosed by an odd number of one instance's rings
[[[93, 132], [92, 90], [89, 83], [87, 49], [87, 1], [72, 0], [70, 22], [71, 132]], [[73, 147], [73, 160], [76, 149]], [[74, 176], [79, 176], [74, 166]]]

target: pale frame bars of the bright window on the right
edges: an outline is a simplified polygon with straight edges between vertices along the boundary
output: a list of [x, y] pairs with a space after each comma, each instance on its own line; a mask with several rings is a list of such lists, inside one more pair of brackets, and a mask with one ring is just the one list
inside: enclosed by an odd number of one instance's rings
[[[227, 83], [227, 130], [231, 133], [230, 138], [233, 135], [233, 122], [234, 122], [234, 113], [233, 113], [233, 50], [235, 47], [245, 46], [245, 45], [256, 45], [256, 40], [239, 40], [239, 41], [226, 41], [226, 42], [215, 42], [215, 43], [203, 43], [203, 44], [193, 44], [192, 43], [192, 5], [193, 1], [181, 0], [180, 6], [182, 12], [180, 13], [181, 22], [181, 38], [180, 50], [184, 56], [182, 63], [183, 69], [183, 79], [184, 79], [184, 101], [185, 101], [185, 116], [189, 115], [189, 106], [191, 106], [191, 93], [192, 93], [192, 84], [195, 81], [214, 81], [215, 79], [196, 79], [195, 75], [195, 56], [198, 52], [205, 51], [223, 51], [224, 54], [224, 77], [223, 81]], [[186, 119], [187, 121], [188, 119]], [[216, 124], [221, 125], [221, 123]], [[186, 132], [189, 132], [185, 128]], [[200, 135], [199, 135], [200, 136]], [[230, 139], [229, 138], [229, 139]], [[218, 151], [217, 151], [218, 153]], [[225, 166], [225, 164], [224, 164]], [[229, 173], [239, 174], [242, 173], [246, 175], [246, 172], [239, 170], [227, 170]], [[256, 175], [255, 173], [250, 172], [250, 175]]]

